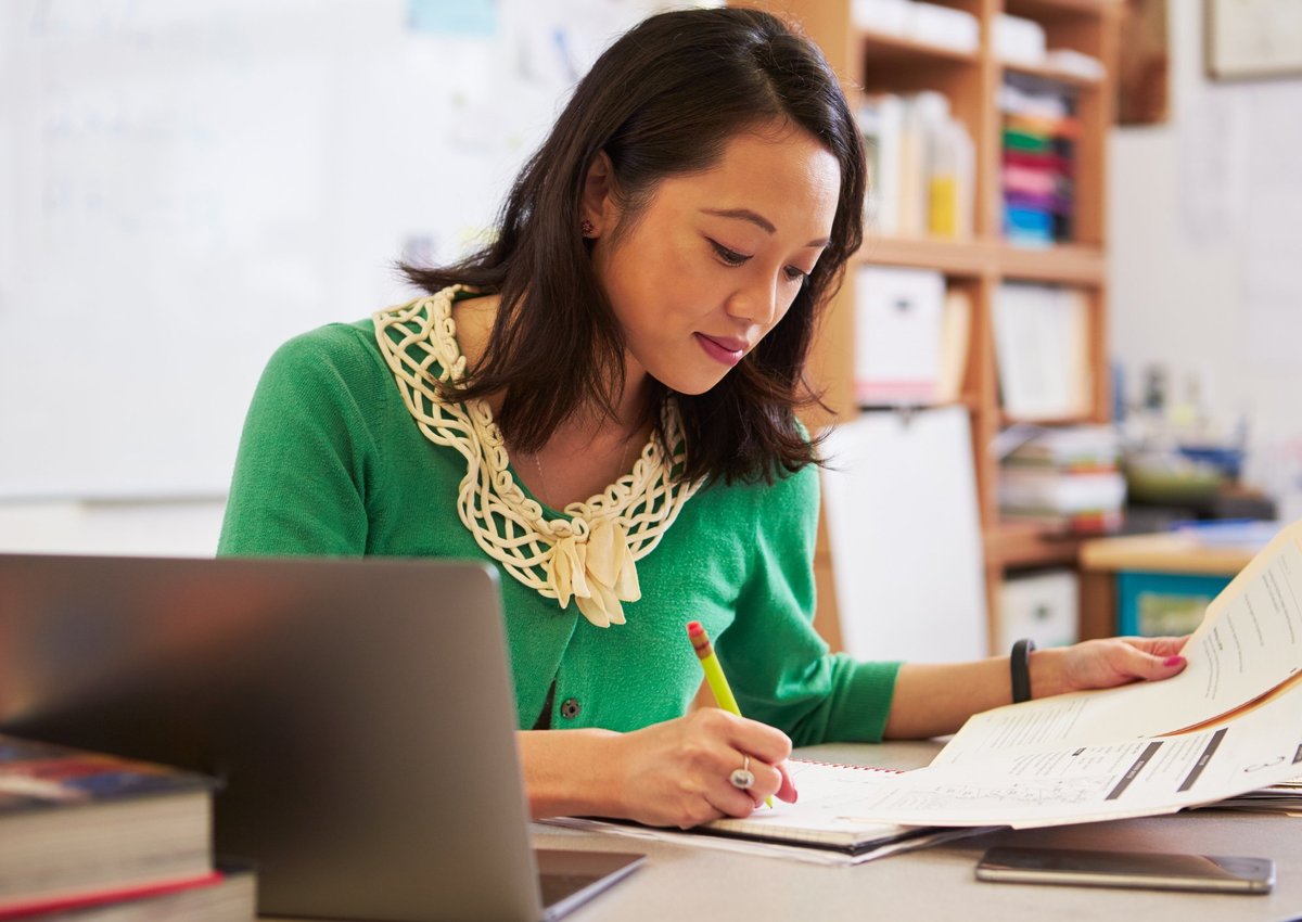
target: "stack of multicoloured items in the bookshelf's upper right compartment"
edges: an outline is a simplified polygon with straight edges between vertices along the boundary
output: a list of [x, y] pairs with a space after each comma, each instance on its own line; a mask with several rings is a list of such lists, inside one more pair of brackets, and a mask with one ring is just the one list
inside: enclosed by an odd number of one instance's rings
[[1072, 240], [1075, 143], [1081, 125], [1065, 90], [1031, 89], [1008, 78], [1000, 91], [1004, 155], [1004, 236], [1047, 246]]

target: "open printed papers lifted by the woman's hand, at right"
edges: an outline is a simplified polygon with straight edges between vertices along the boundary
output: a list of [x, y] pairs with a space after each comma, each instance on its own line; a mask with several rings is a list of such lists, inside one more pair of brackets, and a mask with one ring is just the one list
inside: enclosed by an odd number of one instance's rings
[[1017, 828], [1203, 806], [1302, 774], [1302, 522], [1208, 606], [1189, 664], [971, 718], [866, 815]]

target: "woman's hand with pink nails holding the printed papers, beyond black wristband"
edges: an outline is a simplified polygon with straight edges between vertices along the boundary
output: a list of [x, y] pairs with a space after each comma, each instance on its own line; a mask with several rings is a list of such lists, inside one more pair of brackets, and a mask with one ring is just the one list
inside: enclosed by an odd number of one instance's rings
[[1111, 637], [1031, 654], [1031, 697], [1170, 678], [1185, 668], [1186, 637]]

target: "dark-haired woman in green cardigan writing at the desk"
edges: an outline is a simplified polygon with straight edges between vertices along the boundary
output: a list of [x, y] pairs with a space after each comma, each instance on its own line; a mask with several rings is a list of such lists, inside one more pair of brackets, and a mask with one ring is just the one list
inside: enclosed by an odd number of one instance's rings
[[[277, 352], [221, 552], [496, 561], [535, 815], [746, 815], [794, 800], [793, 741], [927, 737], [1006, 703], [1008, 658], [858, 663], [811, 628], [794, 410], [865, 181], [806, 39], [740, 9], [647, 20], [579, 83], [495, 242]], [[750, 719], [689, 714], [689, 620]], [[1031, 693], [1167, 677], [1177, 647], [1040, 651]]]

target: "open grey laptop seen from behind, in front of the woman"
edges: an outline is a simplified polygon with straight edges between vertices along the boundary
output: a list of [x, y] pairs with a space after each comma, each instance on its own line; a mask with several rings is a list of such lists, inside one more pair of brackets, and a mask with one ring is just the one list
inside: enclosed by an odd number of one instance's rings
[[530, 848], [506, 663], [475, 563], [0, 555], [0, 731], [216, 777], [262, 915], [539, 922], [638, 867]]

